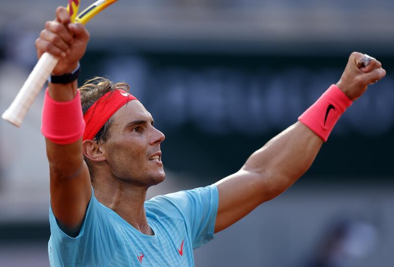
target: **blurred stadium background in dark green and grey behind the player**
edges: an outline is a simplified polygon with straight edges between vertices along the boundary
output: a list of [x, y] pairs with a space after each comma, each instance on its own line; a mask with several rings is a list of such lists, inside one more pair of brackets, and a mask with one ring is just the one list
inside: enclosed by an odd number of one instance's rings
[[[65, 4], [1, 2], [1, 112], [33, 69], [45, 21]], [[120, 0], [87, 25], [79, 83], [129, 83], [166, 135], [167, 178], [148, 198], [236, 172], [339, 80], [351, 52], [387, 70], [307, 174], [195, 250], [197, 267], [393, 266], [393, 10], [392, 0]], [[19, 129], [0, 121], [1, 267], [49, 266], [42, 100]]]

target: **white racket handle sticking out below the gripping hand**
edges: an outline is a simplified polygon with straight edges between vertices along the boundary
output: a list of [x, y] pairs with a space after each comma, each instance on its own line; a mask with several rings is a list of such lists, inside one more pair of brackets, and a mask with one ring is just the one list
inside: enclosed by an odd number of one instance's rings
[[1, 118], [19, 127], [26, 113], [32, 106], [34, 99], [44, 86], [49, 75], [58, 63], [59, 58], [45, 52], [35, 64], [33, 71], [23, 84], [19, 93]]

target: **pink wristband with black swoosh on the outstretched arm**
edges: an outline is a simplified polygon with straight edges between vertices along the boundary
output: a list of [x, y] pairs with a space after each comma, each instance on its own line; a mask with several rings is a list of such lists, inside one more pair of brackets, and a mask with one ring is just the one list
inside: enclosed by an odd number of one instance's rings
[[352, 103], [341, 89], [331, 85], [298, 120], [326, 142], [335, 123]]

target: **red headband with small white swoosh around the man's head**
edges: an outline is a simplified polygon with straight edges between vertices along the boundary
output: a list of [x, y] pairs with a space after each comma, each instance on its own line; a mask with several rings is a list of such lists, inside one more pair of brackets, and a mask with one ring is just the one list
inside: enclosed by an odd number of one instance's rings
[[131, 100], [138, 99], [121, 89], [107, 92], [101, 96], [83, 116], [86, 126], [82, 140], [93, 140], [105, 122]]

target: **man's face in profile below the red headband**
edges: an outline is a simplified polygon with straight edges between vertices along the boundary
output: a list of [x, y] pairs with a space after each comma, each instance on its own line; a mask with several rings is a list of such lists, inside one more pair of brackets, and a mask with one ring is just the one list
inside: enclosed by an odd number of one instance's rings
[[112, 116], [109, 138], [102, 146], [115, 177], [149, 187], [165, 178], [160, 150], [163, 140], [151, 114], [133, 100]]

